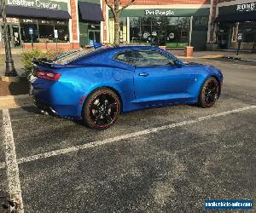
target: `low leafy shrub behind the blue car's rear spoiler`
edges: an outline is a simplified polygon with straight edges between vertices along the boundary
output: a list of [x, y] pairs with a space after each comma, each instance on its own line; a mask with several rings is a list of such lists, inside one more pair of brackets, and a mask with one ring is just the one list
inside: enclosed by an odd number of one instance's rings
[[46, 58], [48, 60], [54, 60], [56, 56], [67, 52], [66, 49], [49, 49], [46, 53], [43, 53], [40, 49], [33, 49], [21, 53], [21, 63], [24, 67], [24, 76], [28, 76], [32, 73], [32, 59]]

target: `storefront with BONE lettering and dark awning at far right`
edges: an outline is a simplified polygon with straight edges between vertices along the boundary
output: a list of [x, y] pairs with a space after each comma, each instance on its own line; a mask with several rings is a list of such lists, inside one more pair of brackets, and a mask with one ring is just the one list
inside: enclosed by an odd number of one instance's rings
[[216, 10], [215, 40], [218, 49], [237, 49], [237, 35], [241, 49], [256, 49], [256, 2], [219, 2]]

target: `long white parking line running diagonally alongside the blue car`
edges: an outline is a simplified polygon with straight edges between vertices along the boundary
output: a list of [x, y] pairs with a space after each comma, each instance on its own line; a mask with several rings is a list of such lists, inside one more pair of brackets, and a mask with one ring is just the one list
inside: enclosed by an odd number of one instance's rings
[[51, 151], [51, 152], [48, 152], [48, 153], [40, 153], [40, 154], [32, 155], [32, 156], [29, 156], [29, 157], [26, 157], [26, 158], [20, 158], [17, 161], [18, 161], [18, 164], [23, 164], [23, 163], [26, 163], [26, 162], [35, 161], [35, 160], [42, 159], [42, 158], [49, 158], [49, 157], [58, 156], [58, 155], [61, 155], [61, 154], [77, 152], [79, 150], [88, 149], [90, 147], [99, 147], [99, 146], [102, 146], [102, 145], [105, 145], [105, 144], [108, 144], [108, 143], [112, 143], [112, 142], [116, 142], [116, 141], [122, 141], [122, 140], [125, 140], [125, 139], [130, 139], [130, 138], [134, 138], [134, 137], [141, 136], [141, 135], [148, 135], [150, 133], [158, 132], [158, 131], [161, 131], [161, 130], [173, 129], [173, 128], [184, 126], [184, 125], [187, 125], [187, 124], [195, 124], [195, 123], [199, 123], [201, 121], [209, 120], [209, 119], [212, 119], [212, 118], [218, 118], [218, 117], [229, 115], [229, 114], [232, 114], [232, 113], [244, 112], [244, 111], [255, 109], [255, 108], [256, 108], [256, 106], [242, 107], [242, 108], [238, 108], [238, 109], [234, 109], [234, 110], [230, 110], [230, 111], [226, 111], [226, 112], [220, 112], [220, 113], [217, 113], [217, 114], [204, 116], [204, 117], [201, 117], [201, 118], [196, 118], [196, 119], [193, 119], [193, 120], [187, 120], [187, 121], [179, 122], [179, 123], [176, 123], [176, 124], [169, 124], [169, 125], [164, 125], [164, 126], [160, 126], [160, 127], [156, 127], [156, 128], [152, 128], [152, 129], [148, 129], [148, 130], [133, 132], [133, 133], [127, 134], [127, 135], [120, 135], [120, 136], [116, 136], [116, 137], [113, 137], [113, 138], [108, 138], [108, 139], [105, 139], [105, 140], [102, 140], [102, 141], [90, 142], [90, 143], [86, 143], [86, 144], [75, 146], [75, 147], [67, 147], [67, 148], [64, 148], [64, 149], [59, 149], [59, 150]]

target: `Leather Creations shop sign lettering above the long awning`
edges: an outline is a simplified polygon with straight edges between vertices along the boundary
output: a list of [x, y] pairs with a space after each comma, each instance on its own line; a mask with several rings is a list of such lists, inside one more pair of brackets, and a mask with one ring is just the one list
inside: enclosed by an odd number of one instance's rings
[[61, 4], [44, 0], [7, 0], [7, 5], [40, 9], [61, 9]]

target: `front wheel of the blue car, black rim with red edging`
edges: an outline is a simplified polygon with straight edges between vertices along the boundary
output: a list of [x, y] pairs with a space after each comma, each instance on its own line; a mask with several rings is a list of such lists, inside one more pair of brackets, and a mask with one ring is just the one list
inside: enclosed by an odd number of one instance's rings
[[203, 108], [212, 107], [218, 100], [219, 83], [214, 77], [210, 77], [203, 84], [199, 95], [199, 106]]

